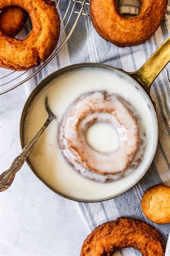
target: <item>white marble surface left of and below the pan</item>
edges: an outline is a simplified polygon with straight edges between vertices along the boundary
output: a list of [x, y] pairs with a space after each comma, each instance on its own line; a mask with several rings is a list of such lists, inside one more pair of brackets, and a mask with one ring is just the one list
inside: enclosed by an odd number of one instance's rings
[[[0, 172], [21, 151], [19, 120], [23, 86], [0, 96]], [[89, 233], [75, 203], [49, 190], [25, 163], [0, 193], [0, 255], [77, 256]]]

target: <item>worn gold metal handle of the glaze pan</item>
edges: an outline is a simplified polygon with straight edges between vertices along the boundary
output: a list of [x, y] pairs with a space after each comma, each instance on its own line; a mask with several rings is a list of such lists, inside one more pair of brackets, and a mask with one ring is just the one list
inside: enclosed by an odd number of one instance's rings
[[129, 73], [150, 94], [152, 82], [170, 61], [170, 37], [155, 51], [154, 54], [136, 72]]

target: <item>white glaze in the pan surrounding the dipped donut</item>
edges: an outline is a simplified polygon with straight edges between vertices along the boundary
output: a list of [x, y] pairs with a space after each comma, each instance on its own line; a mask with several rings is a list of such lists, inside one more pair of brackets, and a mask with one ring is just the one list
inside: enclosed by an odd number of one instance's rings
[[[123, 173], [123, 178], [115, 174], [116, 181], [110, 183], [85, 179], [63, 160], [57, 147], [57, 126], [62, 113], [79, 95], [99, 90], [107, 90], [108, 94], [118, 94], [130, 102], [138, 115], [140, 138], [145, 137], [144, 131], [146, 135], [145, 145], [140, 146], [139, 152], [143, 151], [140, 165], [133, 171], [132, 165]], [[36, 96], [29, 108], [25, 120], [25, 142], [32, 139], [47, 118], [44, 105], [46, 96], [57, 119], [44, 132], [29, 160], [47, 185], [75, 199], [99, 200], [121, 193], [140, 178], [155, 150], [156, 123], [147, 97], [135, 87], [131, 78], [116, 70], [111, 72], [101, 68], [77, 69], [55, 78]], [[134, 164], [137, 158], [138, 153], [133, 160]]]

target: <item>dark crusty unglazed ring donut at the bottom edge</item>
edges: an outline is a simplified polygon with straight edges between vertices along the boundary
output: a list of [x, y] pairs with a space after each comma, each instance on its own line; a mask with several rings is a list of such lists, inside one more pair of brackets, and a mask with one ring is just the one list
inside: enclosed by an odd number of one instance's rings
[[149, 224], [126, 217], [99, 225], [85, 239], [80, 256], [112, 256], [121, 248], [133, 247], [143, 256], [164, 256], [165, 242]]

